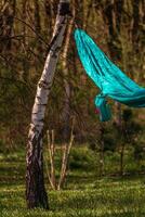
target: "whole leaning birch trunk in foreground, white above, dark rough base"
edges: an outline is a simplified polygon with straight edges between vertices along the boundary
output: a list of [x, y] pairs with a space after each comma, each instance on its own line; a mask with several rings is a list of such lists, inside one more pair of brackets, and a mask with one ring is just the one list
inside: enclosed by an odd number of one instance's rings
[[64, 39], [68, 15], [69, 0], [60, 0], [53, 38], [49, 48], [49, 54], [44, 64], [44, 68], [37, 87], [28, 135], [26, 156], [26, 201], [28, 208], [49, 208], [43, 177], [43, 119], [60, 49]]

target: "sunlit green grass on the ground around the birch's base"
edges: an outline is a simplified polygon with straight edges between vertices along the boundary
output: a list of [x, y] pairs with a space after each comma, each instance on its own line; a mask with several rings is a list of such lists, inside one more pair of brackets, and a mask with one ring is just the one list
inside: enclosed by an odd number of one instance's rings
[[64, 190], [52, 191], [45, 177], [49, 212], [26, 208], [24, 151], [10, 155], [1, 154], [0, 217], [144, 217], [144, 176], [98, 179], [94, 173], [94, 165], [91, 167], [92, 159], [84, 157], [85, 151], [90, 156], [92, 153], [84, 148], [81, 149], [82, 152], [79, 150], [78, 156], [75, 153], [75, 161], [81, 161], [83, 166], [81, 168], [79, 162], [79, 167], [71, 169]]

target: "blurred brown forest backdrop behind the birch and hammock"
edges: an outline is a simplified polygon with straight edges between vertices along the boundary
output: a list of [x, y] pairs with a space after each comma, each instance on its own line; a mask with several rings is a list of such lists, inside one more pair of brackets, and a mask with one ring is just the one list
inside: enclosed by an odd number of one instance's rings
[[[52, 38], [57, 3], [56, 0], [0, 2], [0, 151], [26, 145], [37, 82]], [[88, 142], [91, 149], [97, 148], [101, 152], [123, 151], [124, 143], [131, 144], [140, 158], [144, 151], [145, 111], [110, 101], [113, 119], [100, 124], [93, 102], [98, 89], [80, 64], [74, 29], [77, 26], [87, 30], [113, 62], [144, 87], [145, 1], [76, 0], [70, 11], [44, 128], [54, 129], [60, 143], [69, 139], [75, 118], [78, 144]]]

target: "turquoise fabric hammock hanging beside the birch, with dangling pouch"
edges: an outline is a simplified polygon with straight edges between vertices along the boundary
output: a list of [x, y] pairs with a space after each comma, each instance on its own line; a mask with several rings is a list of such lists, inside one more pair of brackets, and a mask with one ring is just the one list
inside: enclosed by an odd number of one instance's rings
[[102, 122], [110, 119], [106, 98], [132, 107], [145, 107], [145, 88], [124, 75], [82, 29], [75, 30], [75, 40], [81, 63], [101, 93], [95, 98]]

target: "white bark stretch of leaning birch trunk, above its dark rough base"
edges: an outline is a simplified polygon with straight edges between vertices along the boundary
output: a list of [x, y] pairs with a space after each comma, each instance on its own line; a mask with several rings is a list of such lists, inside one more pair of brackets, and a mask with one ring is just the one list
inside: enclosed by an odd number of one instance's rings
[[[61, 2], [69, 2], [68, 0], [61, 0]], [[45, 106], [48, 97], [52, 86], [54, 72], [58, 59], [60, 49], [64, 39], [66, 28], [66, 16], [57, 15], [53, 37], [56, 36], [54, 43], [51, 47], [47, 58], [41, 78], [38, 82], [36, 100], [32, 108], [31, 128], [37, 127], [38, 131], [42, 130]], [[31, 130], [30, 130], [31, 131]]]

